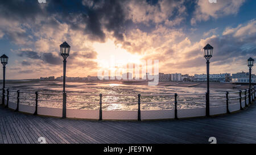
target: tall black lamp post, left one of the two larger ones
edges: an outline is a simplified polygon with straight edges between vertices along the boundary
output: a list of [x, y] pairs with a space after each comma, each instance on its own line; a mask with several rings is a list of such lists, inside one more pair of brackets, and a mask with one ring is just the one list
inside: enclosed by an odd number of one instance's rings
[[70, 46], [66, 41], [60, 45], [60, 55], [63, 57], [63, 107], [62, 107], [62, 118], [66, 118], [66, 108], [67, 108], [67, 94], [65, 91], [66, 82], [66, 63], [67, 57], [69, 56]]

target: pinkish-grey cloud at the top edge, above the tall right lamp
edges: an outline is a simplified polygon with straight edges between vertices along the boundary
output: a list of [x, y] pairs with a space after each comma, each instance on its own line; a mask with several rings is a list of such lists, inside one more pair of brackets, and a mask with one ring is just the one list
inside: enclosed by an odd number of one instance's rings
[[237, 14], [244, 2], [245, 0], [225, 0], [209, 3], [209, 1], [198, 0], [191, 24], [196, 24], [197, 21], [207, 21], [210, 18], [216, 19], [225, 15]]

